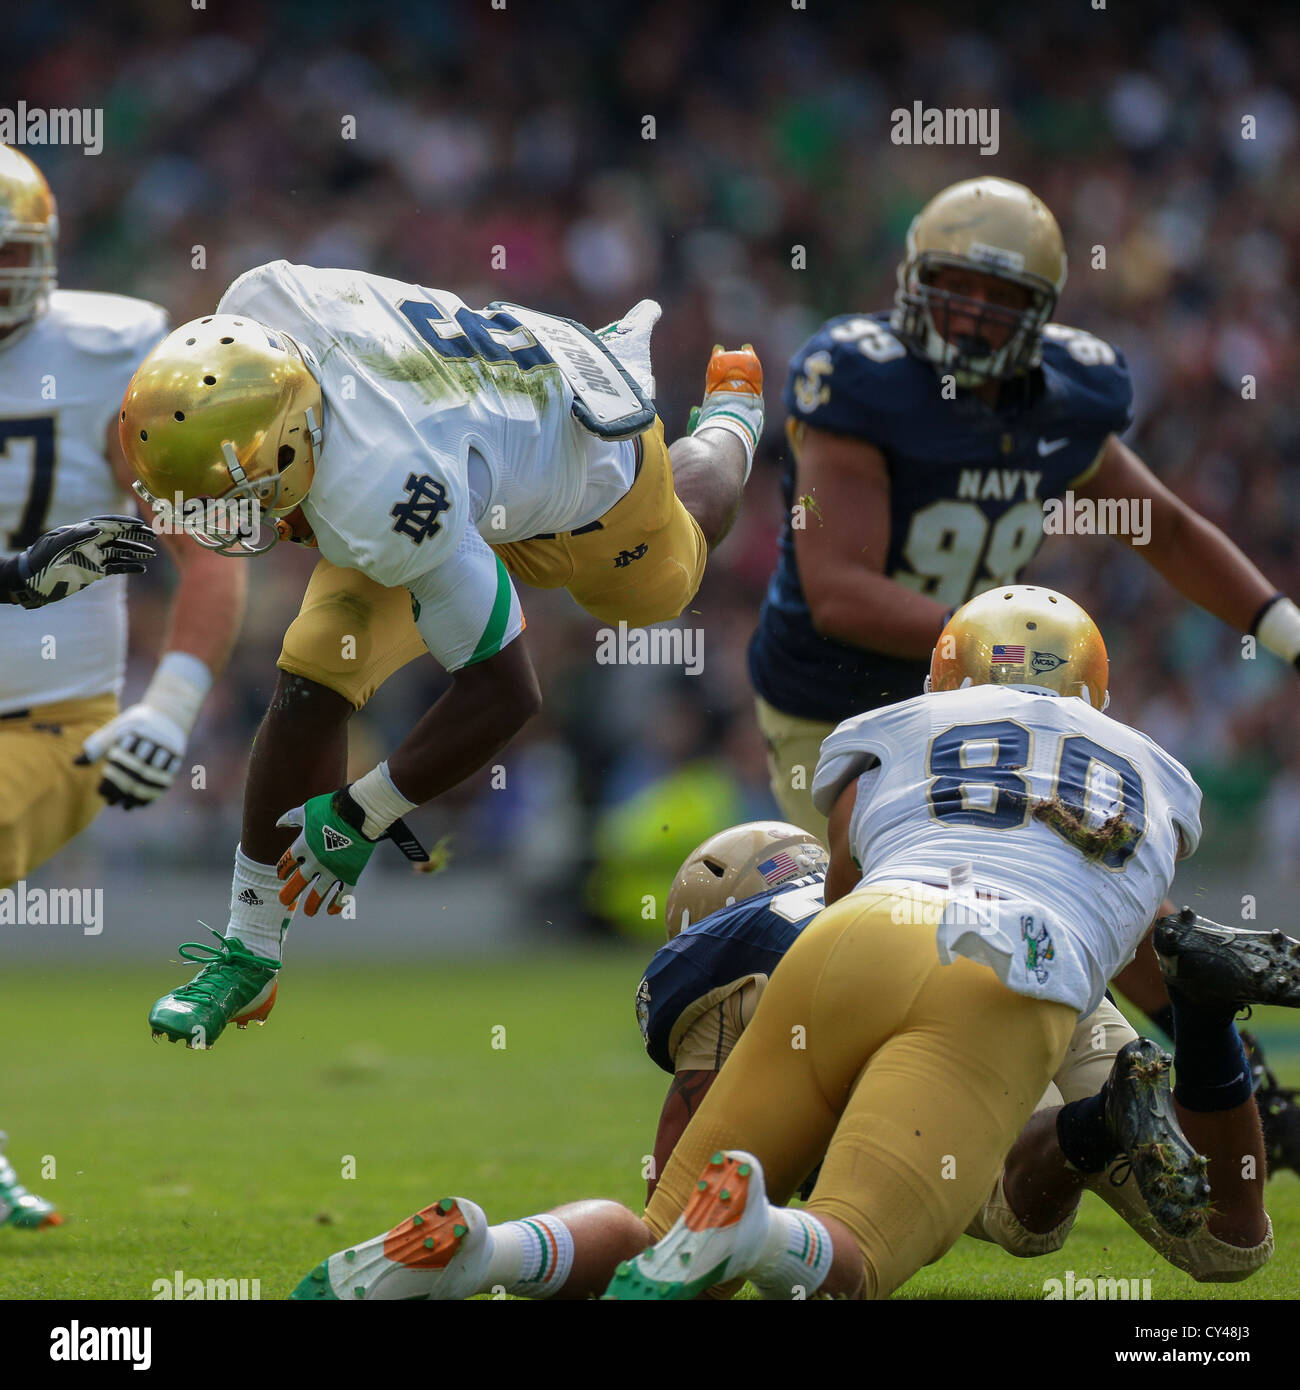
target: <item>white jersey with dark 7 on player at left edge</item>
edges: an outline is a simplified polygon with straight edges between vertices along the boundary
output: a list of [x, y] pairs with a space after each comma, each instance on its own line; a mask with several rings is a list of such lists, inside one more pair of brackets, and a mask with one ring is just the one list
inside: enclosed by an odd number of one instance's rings
[[[0, 552], [89, 516], [135, 513], [104, 439], [165, 332], [157, 304], [60, 289], [35, 322], [0, 339]], [[121, 691], [125, 585], [118, 575], [43, 609], [0, 606], [0, 713]]]

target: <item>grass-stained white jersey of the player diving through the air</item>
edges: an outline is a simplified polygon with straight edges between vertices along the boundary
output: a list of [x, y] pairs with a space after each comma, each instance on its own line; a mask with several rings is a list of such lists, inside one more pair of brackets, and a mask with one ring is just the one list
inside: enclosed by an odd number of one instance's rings
[[303, 514], [331, 564], [437, 610], [421, 632], [448, 670], [523, 627], [487, 541], [585, 525], [635, 475], [634, 445], [581, 428], [571, 388], [527, 329], [446, 291], [273, 261], [241, 275], [217, 311], [309, 354], [324, 442]]

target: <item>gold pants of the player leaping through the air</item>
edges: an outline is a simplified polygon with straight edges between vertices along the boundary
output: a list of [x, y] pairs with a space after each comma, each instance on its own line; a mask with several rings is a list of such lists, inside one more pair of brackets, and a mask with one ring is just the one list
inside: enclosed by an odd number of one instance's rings
[[[637, 438], [631, 488], [591, 525], [495, 545], [510, 574], [533, 588], [567, 588], [602, 623], [645, 627], [677, 617], [704, 578], [708, 543], [673, 492], [663, 423]], [[325, 685], [361, 709], [393, 671], [424, 656], [410, 594], [321, 559], [278, 666]]]

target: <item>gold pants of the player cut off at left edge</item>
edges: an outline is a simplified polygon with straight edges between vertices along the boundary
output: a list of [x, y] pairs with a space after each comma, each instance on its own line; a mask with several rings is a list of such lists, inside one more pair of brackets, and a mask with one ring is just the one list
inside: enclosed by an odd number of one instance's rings
[[0, 719], [0, 888], [51, 859], [104, 809], [103, 769], [74, 759], [115, 714], [115, 695], [92, 695]]

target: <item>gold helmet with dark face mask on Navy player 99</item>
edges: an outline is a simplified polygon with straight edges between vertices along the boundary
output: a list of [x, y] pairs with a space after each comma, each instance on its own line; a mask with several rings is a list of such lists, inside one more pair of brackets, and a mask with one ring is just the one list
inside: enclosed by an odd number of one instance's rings
[[[944, 267], [993, 275], [1029, 293], [1026, 309], [1005, 309], [937, 289]], [[1037, 367], [1043, 325], [1065, 288], [1065, 243], [1047, 204], [1022, 183], [972, 178], [937, 193], [908, 228], [907, 256], [898, 265], [894, 332], [934, 370], [951, 373], [968, 389]], [[952, 341], [948, 321], [975, 318], [975, 331]], [[994, 349], [980, 332], [1000, 325], [1005, 342]]]

